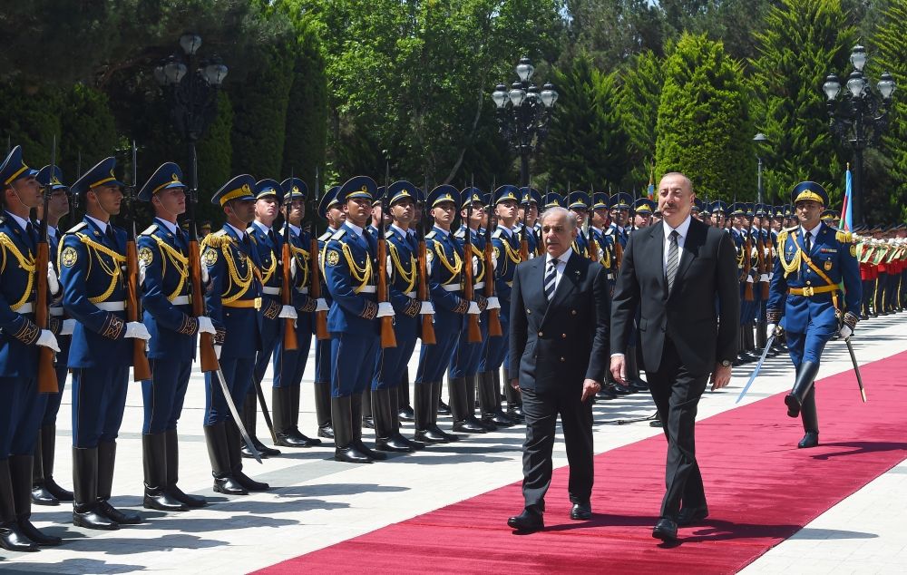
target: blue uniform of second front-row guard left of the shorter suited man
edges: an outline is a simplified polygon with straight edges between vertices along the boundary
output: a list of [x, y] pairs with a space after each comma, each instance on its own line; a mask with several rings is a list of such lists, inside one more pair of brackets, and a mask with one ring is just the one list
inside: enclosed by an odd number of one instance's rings
[[[463, 200], [460, 206], [461, 210], [466, 210], [467, 206], [473, 206], [474, 211], [484, 210], [484, 197], [482, 190], [478, 188], [466, 188], [460, 193]], [[467, 251], [466, 234], [469, 234], [471, 244], [470, 251]], [[535, 232], [530, 233], [532, 239], [535, 238]], [[449, 380], [449, 389], [451, 397], [451, 411], [453, 414], [453, 431], [467, 434], [483, 434], [488, 429], [486, 426], [475, 418], [475, 385], [476, 377], [479, 373], [479, 361], [482, 358], [482, 347], [488, 341], [488, 298], [484, 296], [485, 287], [485, 238], [477, 229], [471, 229], [463, 225], [453, 234], [457, 247], [463, 252], [463, 265], [473, 267], [473, 301], [482, 310], [479, 316], [479, 331], [482, 334], [482, 340], [478, 342], [469, 341], [469, 329], [462, 329], [460, 336], [457, 338], [456, 345], [450, 357], [447, 367], [447, 376]], [[532, 249], [532, 245], [530, 246]], [[495, 300], [496, 301], [496, 300]]]

